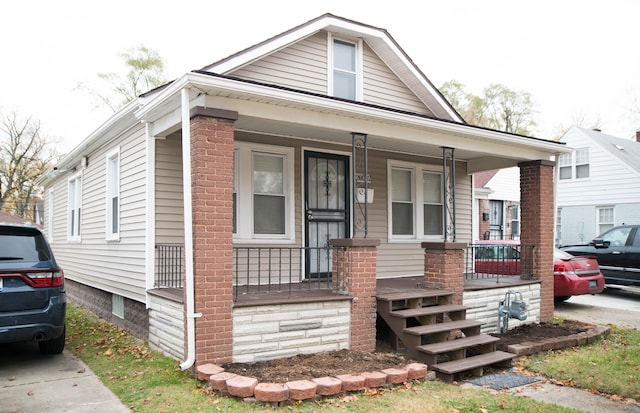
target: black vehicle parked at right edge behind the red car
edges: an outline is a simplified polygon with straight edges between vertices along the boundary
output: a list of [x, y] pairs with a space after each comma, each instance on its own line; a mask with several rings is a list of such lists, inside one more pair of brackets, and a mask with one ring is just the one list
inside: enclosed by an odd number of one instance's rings
[[606, 284], [640, 286], [640, 225], [613, 227], [588, 244], [561, 249], [571, 255], [595, 256]]

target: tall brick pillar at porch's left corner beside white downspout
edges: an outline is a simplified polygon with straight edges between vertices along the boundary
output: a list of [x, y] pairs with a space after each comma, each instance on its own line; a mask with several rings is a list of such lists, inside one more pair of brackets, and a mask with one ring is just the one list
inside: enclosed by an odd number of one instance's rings
[[191, 110], [196, 365], [231, 362], [236, 112]]

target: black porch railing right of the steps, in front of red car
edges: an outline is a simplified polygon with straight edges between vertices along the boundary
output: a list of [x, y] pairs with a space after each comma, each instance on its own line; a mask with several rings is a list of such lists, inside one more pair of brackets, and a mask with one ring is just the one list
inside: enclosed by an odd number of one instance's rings
[[533, 276], [534, 245], [516, 243], [470, 244], [465, 252], [465, 280]]

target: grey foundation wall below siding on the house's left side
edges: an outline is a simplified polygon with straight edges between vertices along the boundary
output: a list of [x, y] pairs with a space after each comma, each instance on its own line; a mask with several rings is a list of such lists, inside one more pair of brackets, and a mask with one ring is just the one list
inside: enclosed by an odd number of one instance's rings
[[67, 298], [105, 321], [127, 330], [141, 340], [149, 339], [149, 314], [144, 303], [124, 298], [124, 319], [112, 312], [112, 294], [65, 279]]

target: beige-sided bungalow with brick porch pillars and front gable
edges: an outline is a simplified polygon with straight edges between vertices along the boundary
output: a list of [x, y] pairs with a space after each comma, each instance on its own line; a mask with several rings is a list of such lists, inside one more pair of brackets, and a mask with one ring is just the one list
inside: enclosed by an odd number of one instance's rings
[[376, 311], [471, 336], [475, 300], [495, 325], [509, 285], [464, 282], [485, 170], [520, 170], [521, 286], [552, 317], [549, 159], [568, 151], [467, 125], [386, 30], [326, 14], [120, 110], [43, 179], [45, 226], [71, 300], [183, 368], [373, 351]]

